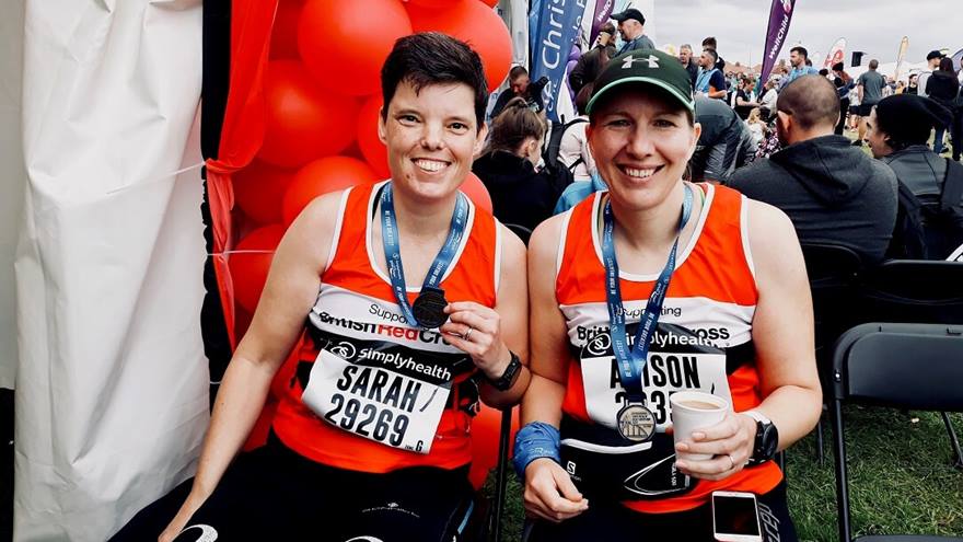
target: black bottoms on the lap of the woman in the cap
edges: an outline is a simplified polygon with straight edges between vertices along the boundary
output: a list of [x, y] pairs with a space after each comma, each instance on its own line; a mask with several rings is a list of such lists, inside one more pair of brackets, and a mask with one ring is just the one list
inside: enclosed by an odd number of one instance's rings
[[[796, 542], [786, 504], [786, 483], [757, 496], [763, 542]], [[712, 506], [674, 514], [640, 514], [617, 503], [590, 501], [589, 509], [561, 523], [536, 522], [531, 542], [605, 540], [713, 540]]]

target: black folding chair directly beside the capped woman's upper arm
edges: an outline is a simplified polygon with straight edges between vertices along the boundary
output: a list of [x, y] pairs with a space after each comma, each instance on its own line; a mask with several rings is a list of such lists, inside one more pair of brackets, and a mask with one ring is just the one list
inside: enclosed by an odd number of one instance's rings
[[[862, 262], [852, 250], [837, 244], [802, 243], [802, 256], [813, 299], [816, 365], [823, 395], [828, 396], [831, 349], [839, 335], [855, 323], [857, 279]], [[816, 424], [816, 455], [823, 464], [822, 417]]]

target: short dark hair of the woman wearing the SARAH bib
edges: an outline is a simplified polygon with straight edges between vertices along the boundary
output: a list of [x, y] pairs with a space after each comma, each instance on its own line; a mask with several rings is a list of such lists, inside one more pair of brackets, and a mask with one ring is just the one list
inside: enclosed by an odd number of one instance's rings
[[411, 84], [416, 93], [432, 84], [467, 84], [475, 93], [476, 129], [481, 130], [488, 81], [481, 57], [464, 42], [439, 32], [413, 34], [395, 42], [381, 68], [382, 118], [387, 118], [387, 106], [402, 82]]

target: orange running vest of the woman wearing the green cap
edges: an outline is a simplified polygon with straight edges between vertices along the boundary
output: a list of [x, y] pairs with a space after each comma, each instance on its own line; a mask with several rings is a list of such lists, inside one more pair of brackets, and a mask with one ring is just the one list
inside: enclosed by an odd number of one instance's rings
[[[659, 323], [683, 326], [726, 350], [726, 367], [716, 369], [717, 383], [721, 385], [712, 384], [711, 390], [721, 394], [719, 389], [724, 389], [728, 382], [734, 411], [747, 411], [757, 406], [762, 396], [752, 348], [757, 291], [746, 237], [745, 198], [723, 186], [698, 184], [695, 187], [697, 197], [698, 191], [704, 195], [703, 210], [693, 217], [697, 223], [692, 240], [678, 247]], [[596, 362], [599, 358], [592, 359], [594, 367], [583, 367], [578, 358], [578, 353], [593, 337], [608, 333], [599, 228], [605, 197], [605, 193], [595, 193], [565, 216], [557, 256], [556, 298], [566, 318], [570, 343], [562, 411], [584, 423], [614, 427], [615, 412], [620, 406], [617, 397], [623, 391], [614, 377], [617, 376], [614, 358], [610, 355], [602, 362]], [[657, 278], [658, 274], [639, 276], [620, 272], [626, 322], [633, 332], [636, 326], [631, 324], [638, 323]], [[591, 349], [589, 346], [587, 350]], [[706, 374], [698, 372], [704, 368], [686, 367], [677, 361], [672, 356], [650, 355], [643, 372], [647, 406], [660, 426], [670, 419], [668, 394], [671, 391], [698, 389], [698, 385], [707, 387], [703, 391], [710, 391]], [[697, 384], [700, 378], [703, 382]], [[699, 481], [684, 495], [624, 504], [643, 512], [682, 511], [707, 503], [715, 491], [763, 494], [776, 487], [781, 478], [779, 468], [769, 461], [720, 482]]]

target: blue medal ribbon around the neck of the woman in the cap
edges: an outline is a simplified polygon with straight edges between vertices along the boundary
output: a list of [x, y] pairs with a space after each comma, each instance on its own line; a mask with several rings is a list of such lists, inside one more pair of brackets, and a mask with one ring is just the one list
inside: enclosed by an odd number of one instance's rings
[[672, 278], [672, 272], [675, 270], [675, 255], [678, 249], [678, 235], [685, 228], [692, 215], [693, 193], [692, 187], [685, 185], [685, 199], [682, 203], [682, 217], [678, 220], [678, 229], [675, 234], [675, 242], [672, 243], [672, 250], [669, 252], [669, 261], [662, 273], [659, 274], [652, 293], [649, 296], [649, 302], [646, 303], [646, 311], [639, 321], [636, 331], [635, 345], [629, 348], [625, 331], [625, 308], [622, 304], [622, 288], [618, 282], [618, 261], [615, 257], [615, 219], [612, 216], [612, 203], [605, 201], [605, 208], [602, 214], [602, 258], [605, 264], [605, 300], [608, 305], [608, 334], [612, 338], [612, 350], [615, 359], [618, 360], [618, 368], [622, 377], [622, 387], [628, 394], [630, 402], [642, 402], [642, 369], [649, 355], [649, 345], [652, 343], [652, 335], [655, 333], [655, 325], [659, 322], [659, 315], [662, 313], [662, 302], [665, 300], [665, 292], [669, 289], [669, 281]]

